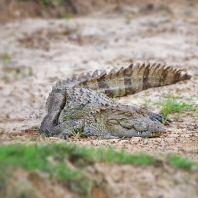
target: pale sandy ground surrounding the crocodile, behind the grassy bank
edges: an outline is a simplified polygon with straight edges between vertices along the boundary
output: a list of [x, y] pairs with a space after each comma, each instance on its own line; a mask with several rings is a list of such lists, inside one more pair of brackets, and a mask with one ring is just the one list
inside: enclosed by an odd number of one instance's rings
[[[26, 19], [0, 25], [0, 142], [49, 141], [34, 138], [45, 115], [52, 85], [82, 72], [162, 62], [193, 75], [187, 82], [149, 89], [119, 99], [159, 112], [153, 103], [170, 93], [198, 103], [197, 4], [122, 6], [71, 19]], [[198, 113], [172, 114], [160, 138], [101, 140], [71, 138], [83, 145], [115, 146], [129, 152], [172, 152], [198, 160]], [[35, 129], [36, 130], [36, 129]]]

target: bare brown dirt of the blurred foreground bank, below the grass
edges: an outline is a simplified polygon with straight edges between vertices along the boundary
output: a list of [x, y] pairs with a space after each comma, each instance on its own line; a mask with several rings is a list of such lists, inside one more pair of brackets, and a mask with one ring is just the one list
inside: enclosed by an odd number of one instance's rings
[[[109, 165], [96, 163], [83, 167], [86, 174], [94, 175], [90, 197], [197, 197], [196, 171], [183, 171], [169, 167]], [[66, 183], [66, 182], [65, 182]], [[4, 184], [3, 197], [82, 197], [74, 184], [66, 186], [63, 182], [53, 181], [41, 171], [28, 172], [16, 168]], [[85, 186], [88, 188], [88, 186]], [[77, 191], [77, 192], [76, 192]]]

